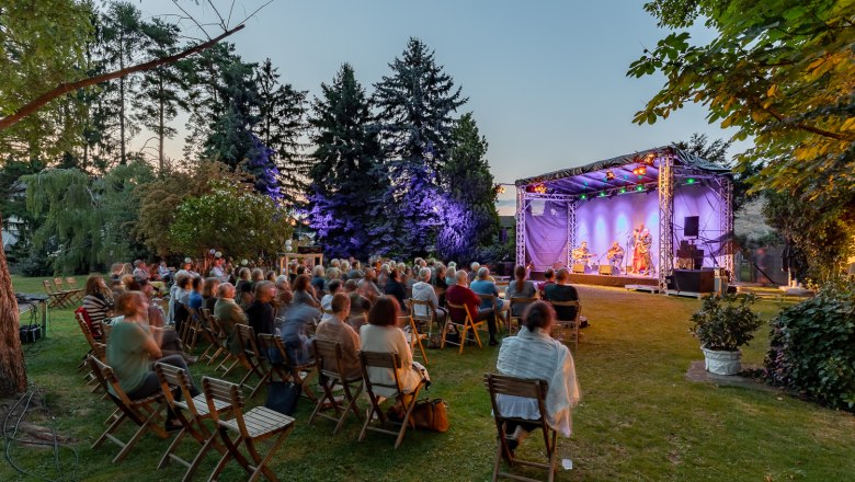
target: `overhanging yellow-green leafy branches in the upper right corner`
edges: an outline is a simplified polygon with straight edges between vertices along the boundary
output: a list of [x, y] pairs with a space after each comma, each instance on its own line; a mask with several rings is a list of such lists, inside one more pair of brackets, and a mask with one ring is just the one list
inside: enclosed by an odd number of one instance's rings
[[772, 188], [820, 210], [855, 213], [855, 2], [835, 0], [656, 0], [660, 25], [704, 19], [718, 35], [691, 45], [673, 32], [632, 62], [628, 76], [663, 74], [663, 89], [635, 122], [666, 118], [687, 102], [708, 120], [753, 138], [738, 169], [761, 167], [755, 188]]

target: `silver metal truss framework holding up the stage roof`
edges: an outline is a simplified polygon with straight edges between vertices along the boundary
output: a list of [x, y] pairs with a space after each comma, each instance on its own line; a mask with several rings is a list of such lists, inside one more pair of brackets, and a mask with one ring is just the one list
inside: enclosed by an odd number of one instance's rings
[[[702, 169], [687, 167], [693, 160], [679, 149], [669, 149], [657, 158], [659, 161], [659, 179], [654, 184], [659, 191], [659, 253], [658, 265], [656, 268], [657, 282], [660, 289], [664, 292], [668, 287], [666, 278], [674, 271], [674, 186], [681, 179], [693, 177], [703, 180], [713, 188], [721, 200], [722, 209], [719, 215], [719, 229], [721, 231], [721, 242], [726, 243], [727, 249], [721, 249], [716, 256], [718, 266], [733, 273], [733, 253], [731, 240], [733, 232], [733, 183], [729, 175], [710, 174]], [[682, 161], [684, 165], [675, 164], [675, 160]], [[653, 185], [648, 183], [642, 185], [648, 190]], [[525, 213], [532, 200], [565, 200], [567, 203], [567, 254], [565, 265], [571, 266], [572, 249], [575, 245], [577, 229], [577, 204], [580, 196], [555, 193], [529, 193], [526, 191], [528, 185], [521, 184], [516, 186], [516, 264], [525, 265]], [[606, 190], [606, 194], [613, 194], [616, 190]]]

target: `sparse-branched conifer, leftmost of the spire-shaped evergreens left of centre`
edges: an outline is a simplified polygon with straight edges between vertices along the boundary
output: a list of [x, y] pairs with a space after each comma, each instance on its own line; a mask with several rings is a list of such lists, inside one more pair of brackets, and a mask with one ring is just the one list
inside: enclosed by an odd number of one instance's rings
[[281, 194], [286, 204], [294, 206], [306, 198], [311, 163], [304, 153], [300, 138], [306, 134], [307, 91], [280, 84], [278, 69], [270, 59], [255, 71], [259, 89], [259, 124], [255, 134], [271, 148], [278, 168]]

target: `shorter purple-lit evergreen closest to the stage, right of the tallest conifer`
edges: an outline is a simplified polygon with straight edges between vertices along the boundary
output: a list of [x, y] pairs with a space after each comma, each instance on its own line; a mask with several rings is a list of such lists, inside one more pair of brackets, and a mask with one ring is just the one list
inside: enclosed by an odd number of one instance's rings
[[452, 148], [443, 169], [446, 205], [436, 251], [446, 260], [471, 261], [498, 234], [495, 183], [487, 162], [487, 139], [471, 113], [452, 130]]

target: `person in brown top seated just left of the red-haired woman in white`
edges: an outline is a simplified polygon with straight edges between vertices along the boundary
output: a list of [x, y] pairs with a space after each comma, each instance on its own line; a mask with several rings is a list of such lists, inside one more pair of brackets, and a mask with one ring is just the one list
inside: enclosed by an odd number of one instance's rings
[[[347, 280], [353, 282], [353, 279]], [[355, 282], [354, 282], [355, 284]], [[347, 324], [347, 315], [351, 311], [351, 298], [337, 292], [332, 296], [332, 318], [321, 321], [315, 331], [315, 337], [318, 340], [328, 340], [341, 343], [342, 369], [341, 374], [346, 379], [362, 378], [362, 365], [360, 364], [360, 334]], [[323, 359], [324, 369], [338, 370], [334, 359]]]

